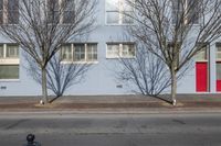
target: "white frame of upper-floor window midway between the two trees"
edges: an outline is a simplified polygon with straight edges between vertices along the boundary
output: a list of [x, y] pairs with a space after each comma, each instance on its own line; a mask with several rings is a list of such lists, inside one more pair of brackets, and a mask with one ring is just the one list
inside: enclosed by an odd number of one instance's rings
[[[124, 2], [125, 2], [125, 0], [118, 0], [118, 7], [117, 7], [116, 11], [114, 11], [114, 10], [107, 10], [107, 1], [108, 0], [105, 0], [105, 24], [106, 25], [134, 25], [134, 21], [131, 23], [123, 23], [123, 19], [124, 19], [124, 13], [123, 12], [133, 12], [134, 11], [134, 10], [131, 10], [131, 11], [124, 10]], [[108, 12], [116, 12], [116, 13], [118, 13], [118, 22], [117, 23], [107, 23], [107, 13]]]

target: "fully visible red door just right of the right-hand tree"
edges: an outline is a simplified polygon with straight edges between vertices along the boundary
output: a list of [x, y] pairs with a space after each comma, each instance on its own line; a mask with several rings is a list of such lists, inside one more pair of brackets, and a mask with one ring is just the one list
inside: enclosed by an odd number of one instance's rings
[[196, 63], [197, 92], [208, 91], [208, 65], [207, 63]]

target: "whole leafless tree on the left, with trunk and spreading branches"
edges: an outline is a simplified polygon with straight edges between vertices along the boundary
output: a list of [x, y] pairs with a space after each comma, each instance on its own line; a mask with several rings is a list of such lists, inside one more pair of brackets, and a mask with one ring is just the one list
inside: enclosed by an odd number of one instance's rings
[[[8, 19], [1, 32], [12, 42], [20, 44], [41, 69], [42, 98], [48, 103], [46, 66], [63, 43], [87, 34], [94, 26], [96, 0], [18, 0], [4, 9], [18, 10], [19, 21]], [[13, 22], [12, 25], [10, 22]]]

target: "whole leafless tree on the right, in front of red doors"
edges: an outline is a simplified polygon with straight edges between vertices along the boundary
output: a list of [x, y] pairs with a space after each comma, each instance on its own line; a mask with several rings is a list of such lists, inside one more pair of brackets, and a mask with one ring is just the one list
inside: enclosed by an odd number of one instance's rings
[[177, 78], [192, 57], [221, 35], [220, 0], [127, 0], [135, 10], [125, 15], [136, 25], [129, 34], [168, 67], [171, 101], [176, 104]]

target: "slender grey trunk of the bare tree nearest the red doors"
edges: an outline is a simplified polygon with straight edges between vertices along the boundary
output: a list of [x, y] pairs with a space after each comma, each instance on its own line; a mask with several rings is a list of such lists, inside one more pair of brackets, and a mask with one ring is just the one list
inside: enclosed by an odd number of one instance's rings
[[172, 100], [172, 105], [176, 105], [176, 94], [177, 94], [177, 77], [176, 77], [176, 71], [172, 68], [171, 70], [171, 100]]

